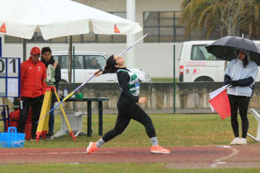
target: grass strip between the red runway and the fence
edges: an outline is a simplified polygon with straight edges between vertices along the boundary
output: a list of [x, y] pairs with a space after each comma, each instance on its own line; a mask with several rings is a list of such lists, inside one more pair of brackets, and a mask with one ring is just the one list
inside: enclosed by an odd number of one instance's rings
[[[207, 146], [229, 144], [233, 140], [230, 117], [222, 120], [218, 114], [149, 114], [155, 126], [159, 144], [162, 146]], [[257, 121], [248, 114], [249, 133], [256, 136]], [[115, 114], [103, 115], [103, 133], [112, 129], [116, 122]], [[87, 131], [87, 117], [83, 118], [82, 131]], [[239, 125], [241, 121], [239, 118]], [[90, 141], [101, 138], [98, 135], [98, 115], [92, 116], [93, 134], [91, 138], [78, 136], [73, 142], [71, 136], [64, 135], [55, 140], [27, 142], [25, 148], [85, 147]], [[241, 129], [241, 128], [239, 128]], [[60, 130], [60, 115], [55, 116], [54, 133]], [[241, 132], [240, 132], [241, 135]], [[256, 143], [248, 138], [248, 143]], [[144, 127], [131, 120], [125, 131], [109, 141], [104, 147], [150, 146]]]

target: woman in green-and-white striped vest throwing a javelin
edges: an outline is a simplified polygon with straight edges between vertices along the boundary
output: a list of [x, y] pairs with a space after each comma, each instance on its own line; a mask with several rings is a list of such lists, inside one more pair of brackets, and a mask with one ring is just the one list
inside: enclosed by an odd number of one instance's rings
[[96, 151], [98, 147], [121, 134], [130, 123], [131, 119], [144, 125], [146, 133], [152, 143], [151, 153], [170, 153], [170, 150], [159, 146], [151, 118], [136, 104], [144, 104], [146, 101], [146, 97], [138, 97], [140, 83], [138, 82], [137, 75], [125, 67], [125, 60], [122, 57], [116, 55], [112, 55], [107, 59], [107, 65], [105, 66], [104, 71], [96, 71], [94, 74], [95, 76], [99, 76], [106, 73], [116, 73], [120, 85], [116, 125], [114, 129], [105, 133], [99, 141], [90, 142], [86, 153], [89, 154]]

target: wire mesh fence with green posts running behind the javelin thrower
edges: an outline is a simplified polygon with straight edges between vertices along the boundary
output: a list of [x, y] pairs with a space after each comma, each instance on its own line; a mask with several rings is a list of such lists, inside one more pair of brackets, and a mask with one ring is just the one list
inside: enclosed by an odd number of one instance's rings
[[[137, 44], [122, 55], [126, 67], [138, 75], [140, 97], [146, 97], [146, 103], [140, 106], [147, 113], [211, 113], [209, 93], [224, 86], [224, 61], [207, 53], [204, 48], [207, 44], [199, 43], [188, 48], [182, 43]], [[34, 46], [38, 45], [27, 44], [27, 52]], [[38, 47], [41, 49], [44, 46], [46, 45], [41, 44]], [[77, 44], [74, 48], [73, 84], [73, 72], [71, 82], [68, 80], [68, 44], [54, 44], [49, 47], [54, 59], [59, 61], [61, 66], [62, 80], [59, 90], [64, 91], [66, 88], [68, 93], [103, 67], [109, 56], [118, 55], [127, 48], [125, 44]], [[4, 44], [3, 57], [21, 57], [22, 50], [22, 45]], [[258, 92], [257, 81], [250, 100], [250, 107], [255, 109], [258, 109], [260, 104]], [[76, 93], [83, 94], [83, 97], [108, 97], [110, 100], [103, 102], [103, 112], [117, 113], [116, 102], [120, 86], [116, 74], [94, 77]], [[6, 99], [5, 103], [7, 102]], [[1, 104], [3, 103], [1, 99]], [[73, 109], [74, 104], [66, 102], [64, 107]], [[60, 111], [59, 107], [56, 109]], [[75, 102], [75, 109], [86, 112], [87, 102]], [[93, 102], [92, 109], [93, 113], [97, 113], [98, 103]]]

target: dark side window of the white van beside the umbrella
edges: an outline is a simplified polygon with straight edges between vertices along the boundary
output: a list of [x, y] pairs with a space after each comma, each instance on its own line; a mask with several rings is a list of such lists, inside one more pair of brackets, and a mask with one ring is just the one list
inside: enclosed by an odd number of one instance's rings
[[207, 49], [205, 48], [207, 45], [192, 45], [192, 52], [191, 52], [191, 60], [220, 60], [216, 56], [214, 56], [211, 53], [207, 52]]

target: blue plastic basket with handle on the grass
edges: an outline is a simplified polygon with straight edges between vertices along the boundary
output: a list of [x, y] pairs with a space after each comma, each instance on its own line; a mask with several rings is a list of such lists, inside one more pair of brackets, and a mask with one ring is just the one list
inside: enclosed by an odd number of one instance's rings
[[8, 127], [7, 133], [0, 133], [2, 148], [22, 148], [24, 146], [25, 133], [17, 133], [16, 127]]

